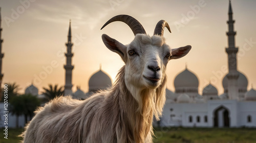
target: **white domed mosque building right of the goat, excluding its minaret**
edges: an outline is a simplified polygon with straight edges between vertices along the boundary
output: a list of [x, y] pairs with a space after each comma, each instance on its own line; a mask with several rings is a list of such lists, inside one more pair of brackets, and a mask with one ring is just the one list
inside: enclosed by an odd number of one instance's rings
[[231, 99], [226, 80], [225, 76], [223, 94], [218, 95], [218, 90], [209, 83], [202, 95], [199, 95], [198, 78], [186, 68], [174, 80], [175, 93], [166, 89], [163, 116], [158, 124], [183, 127], [256, 127], [256, 91], [246, 90], [248, 81], [239, 73], [238, 98]]

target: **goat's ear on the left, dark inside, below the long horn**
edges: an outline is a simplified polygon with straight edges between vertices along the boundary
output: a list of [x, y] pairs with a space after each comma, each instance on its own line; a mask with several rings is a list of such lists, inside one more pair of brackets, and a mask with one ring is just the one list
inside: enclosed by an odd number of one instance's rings
[[101, 36], [103, 43], [107, 48], [109, 48], [111, 51], [118, 53], [122, 60], [126, 61], [126, 49], [127, 47], [123, 45], [122, 43], [118, 42], [116, 39], [113, 39], [109, 37], [106, 34], [102, 34]]

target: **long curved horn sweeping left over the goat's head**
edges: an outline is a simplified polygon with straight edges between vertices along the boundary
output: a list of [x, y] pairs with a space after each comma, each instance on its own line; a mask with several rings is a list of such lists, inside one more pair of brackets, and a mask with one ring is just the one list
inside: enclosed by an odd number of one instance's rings
[[104, 28], [106, 25], [108, 25], [109, 23], [114, 22], [114, 21], [122, 21], [122, 22], [126, 23], [132, 29], [134, 36], [136, 34], [146, 34], [146, 32], [145, 32], [143, 26], [140, 24], [140, 22], [129, 15], [117, 15], [117, 16], [112, 17], [109, 21], [107, 21], [101, 27], [100, 30], [102, 30], [102, 28]]

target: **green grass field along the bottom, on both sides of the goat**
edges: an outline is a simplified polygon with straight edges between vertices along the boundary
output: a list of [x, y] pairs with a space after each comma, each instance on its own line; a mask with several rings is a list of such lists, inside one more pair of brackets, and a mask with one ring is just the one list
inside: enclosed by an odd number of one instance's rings
[[[23, 129], [1, 129], [1, 143], [18, 143]], [[255, 143], [255, 128], [155, 128], [155, 143]]]

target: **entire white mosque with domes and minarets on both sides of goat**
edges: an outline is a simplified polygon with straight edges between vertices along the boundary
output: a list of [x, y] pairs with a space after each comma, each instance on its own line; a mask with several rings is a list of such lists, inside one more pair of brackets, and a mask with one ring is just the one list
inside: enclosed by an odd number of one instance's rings
[[[209, 83], [202, 92], [198, 93], [199, 80], [197, 75], [187, 67], [179, 73], [175, 80], [175, 92], [166, 89], [166, 102], [163, 108], [163, 116], [155, 126], [183, 126], [183, 127], [256, 127], [256, 91], [251, 88], [247, 91], [247, 77], [237, 70], [237, 52], [233, 31], [232, 7], [228, 8], [228, 73], [223, 77], [224, 93]], [[1, 37], [0, 37], [1, 38]], [[89, 79], [89, 91], [84, 93], [79, 87], [72, 92], [71, 64], [73, 53], [71, 51], [71, 23], [69, 25], [68, 42], [66, 43], [67, 64], [64, 66], [65, 95], [72, 95], [74, 99], [83, 100], [90, 97], [98, 90], [104, 90], [112, 85], [110, 76], [101, 67], [92, 74]], [[1, 59], [2, 61], [2, 59]], [[0, 71], [1, 73], [1, 71]], [[100, 82], [99, 82], [100, 81]], [[39, 98], [38, 89], [31, 84], [25, 94], [32, 94]], [[22, 119], [20, 119], [22, 120]]]

